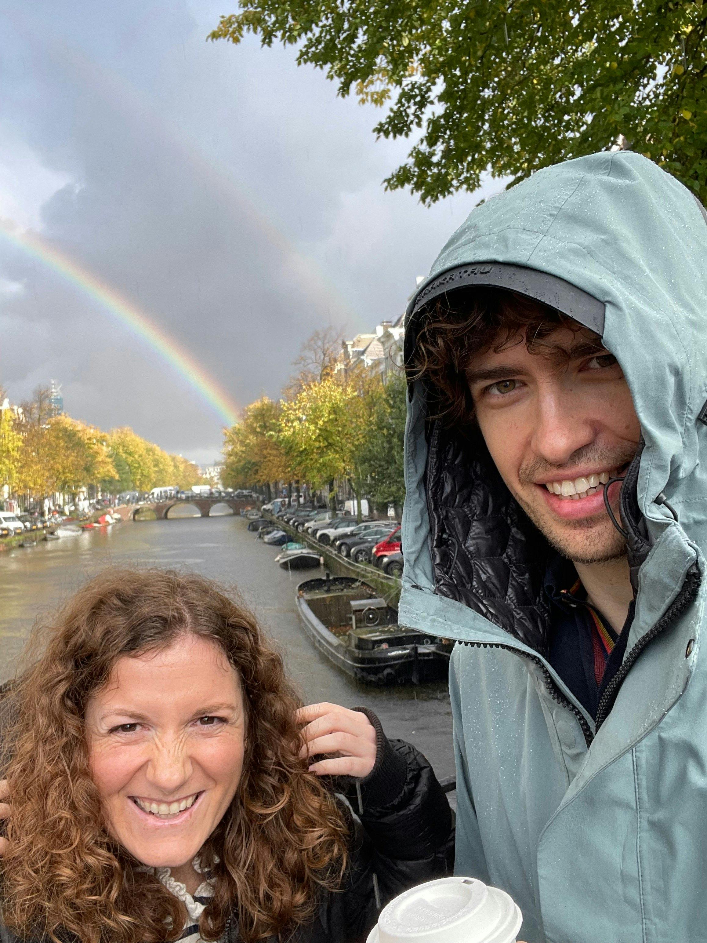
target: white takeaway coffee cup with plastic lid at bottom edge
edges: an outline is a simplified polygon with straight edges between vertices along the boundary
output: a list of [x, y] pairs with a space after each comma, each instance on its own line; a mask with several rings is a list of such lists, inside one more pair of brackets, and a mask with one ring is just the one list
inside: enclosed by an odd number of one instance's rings
[[440, 878], [386, 904], [366, 943], [516, 943], [518, 904], [474, 878]]

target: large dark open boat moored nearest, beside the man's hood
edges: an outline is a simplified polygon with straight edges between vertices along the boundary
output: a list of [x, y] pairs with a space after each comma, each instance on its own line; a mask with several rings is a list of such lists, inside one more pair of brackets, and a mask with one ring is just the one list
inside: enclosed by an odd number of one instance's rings
[[353, 576], [305, 580], [297, 587], [304, 632], [357, 681], [419, 684], [446, 678], [452, 641], [398, 625], [398, 612]]

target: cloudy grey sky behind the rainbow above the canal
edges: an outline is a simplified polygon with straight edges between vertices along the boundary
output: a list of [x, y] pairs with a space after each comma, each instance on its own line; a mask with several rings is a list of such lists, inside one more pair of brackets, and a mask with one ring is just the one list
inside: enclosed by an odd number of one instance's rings
[[[395, 319], [470, 209], [382, 180], [409, 144], [293, 49], [206, 42], [203, 0], [0, 0], [0, 218], [138, 306], [238, 405], [279, 394], [303, 340]], [[222, 419], [104, 306], [0, 232], [0, 384], [201, 464]]]

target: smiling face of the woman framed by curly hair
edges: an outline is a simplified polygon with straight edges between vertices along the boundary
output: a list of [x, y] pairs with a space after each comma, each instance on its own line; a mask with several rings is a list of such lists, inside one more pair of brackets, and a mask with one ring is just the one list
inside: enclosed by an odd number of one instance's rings
[[110, 834], [152, 867], [188, 864], [233, 799], [245, 716], [222, 649], [193, 635], [124, 655], [86, 711]]

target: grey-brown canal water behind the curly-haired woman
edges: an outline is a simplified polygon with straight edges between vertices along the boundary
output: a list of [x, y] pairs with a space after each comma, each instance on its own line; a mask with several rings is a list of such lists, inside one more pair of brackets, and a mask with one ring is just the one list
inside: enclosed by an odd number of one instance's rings
[[244, 519], [223, 516], [126, 521], [0, 554], [0, 681], [14, 674], [34, 620], [46, 617], [102, 568], [137, 564], [195, 570], [238, 587], [279, 646], [305, 703], [370, 707], [388, 736], [414, 743], [438, 776], [452, 775], [446, 683], [371, 687], [335, 668], [304, 635], [295, 607], [297, 583], [318, 571], [292, 573], [290, 579], [273, 563], [278, 552], [255, 539]]

